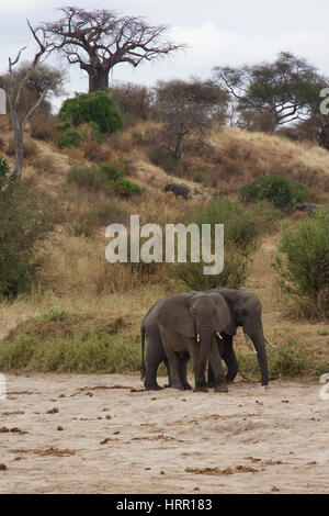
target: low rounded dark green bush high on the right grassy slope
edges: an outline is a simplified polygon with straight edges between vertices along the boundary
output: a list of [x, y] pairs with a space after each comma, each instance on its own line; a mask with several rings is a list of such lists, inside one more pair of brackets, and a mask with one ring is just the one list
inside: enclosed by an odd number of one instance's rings
[[281, 176], [257, 178], [241, 188], [240, 195], [245, 202], [265, 200], [280, 210], [292, 207], [294, 202], [305, 202], [310, 199], [305, 184]]

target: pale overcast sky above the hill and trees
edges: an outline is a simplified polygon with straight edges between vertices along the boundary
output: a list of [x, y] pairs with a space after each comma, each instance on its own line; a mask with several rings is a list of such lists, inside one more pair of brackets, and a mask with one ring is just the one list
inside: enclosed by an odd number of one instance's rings
[[[5, 71], [8, 57], [15, 57], [26, 44], [24, 57], [34, 55], [26, 18], [32, 25], [53, 21], [59, 18], [57, 9], [68, 4], [143, 15], [151, 24], [166, 23], [171, 26], [172, 40], [190, 45], [185, 52], [136, 69], [117, 65], [111, 79], [114, 81], [152, 86], [158, 79], [192, 75], [209, 78], [214, 66], [272, 60], [281, 51], [306, 57], [329, 76], [328, 0], [2, 0], [0, 72]], [[64, 59], [55, 56], [48, 64], [66, 67]], [[78, 66], [70, 67], [66, 90], [88, 90], [88, 76]]]

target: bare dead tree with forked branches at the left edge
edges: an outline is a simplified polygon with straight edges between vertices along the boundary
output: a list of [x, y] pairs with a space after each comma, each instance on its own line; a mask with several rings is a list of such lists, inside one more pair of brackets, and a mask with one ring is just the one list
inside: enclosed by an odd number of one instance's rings
[[31, 63], [31, 65], [26, 68], [26, 72], [23, 75], [19, 85], [16, 85], [14, 80], [13, 67], [20, 61], [22, 52], [26, 48], [26, 46], [20, 49], [14, 60], [12, 60], [11, 57], [9, 57], [8, 74], [7, 76], [0, 77], [0, 87], [3, 88], [7, 93], [7, 99], [8, 99], [9, 109], [10, 109], [14, 148], [15, 148], [14, 173], [18, 177], [22, 176], [22, 169], [23, 169], [23, 143], [24, 143], [24, 131], [26, 127], [26, 123], [49, 91], [49, 89], [45, 89], [44, 91], [42, 91], [38, 99], [34, 103], [34, 105], [30, 108], [30, 110], [24, 114], [23, 117], [20, 116], [20, 101], [21, 101], [24, 88], [26, 86], [26, 82], [29, 81], [36, 65], [39, 63], [41, 57], [45, 55], [49, 48], [47, 42], [45, 41], [44, 34], [43, 34], [43, 42], [42, 42], [37, 35], [37, 30], [32, 29], [29, 20], [27, 20], [27, 25], [29, 25], [30, 31], [33, 34], [34, 40], [38, 44], [38, 47], [39, 47], [38, 52], [35, 54], [34, 59]]

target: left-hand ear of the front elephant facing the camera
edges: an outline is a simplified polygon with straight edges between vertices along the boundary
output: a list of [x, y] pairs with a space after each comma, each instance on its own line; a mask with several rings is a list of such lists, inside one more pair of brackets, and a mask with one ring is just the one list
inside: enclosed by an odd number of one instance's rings
[[163, 301], [158, 317], [163, 328], [171, 328], [184, 337], [195, 337], [195, 323], [189, 311], [191, 298], [192, 294], [173, 294]]

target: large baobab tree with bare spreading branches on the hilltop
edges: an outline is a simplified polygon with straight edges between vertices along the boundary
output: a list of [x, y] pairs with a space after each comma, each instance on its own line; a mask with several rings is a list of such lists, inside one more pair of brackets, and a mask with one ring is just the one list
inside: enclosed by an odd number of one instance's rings
[[106, 90], [115, 65], [135, 68], [144, 60], [184, 48], [166, 40], [167, 25], [149, 25], [143, 18], [118, 16], [105, 9], [87, 11], [76, 7], [59, 9], [64, 16], [41, 29], [52, 40], [53, 49], [65, 54], [89, 75], [89, 92]]

